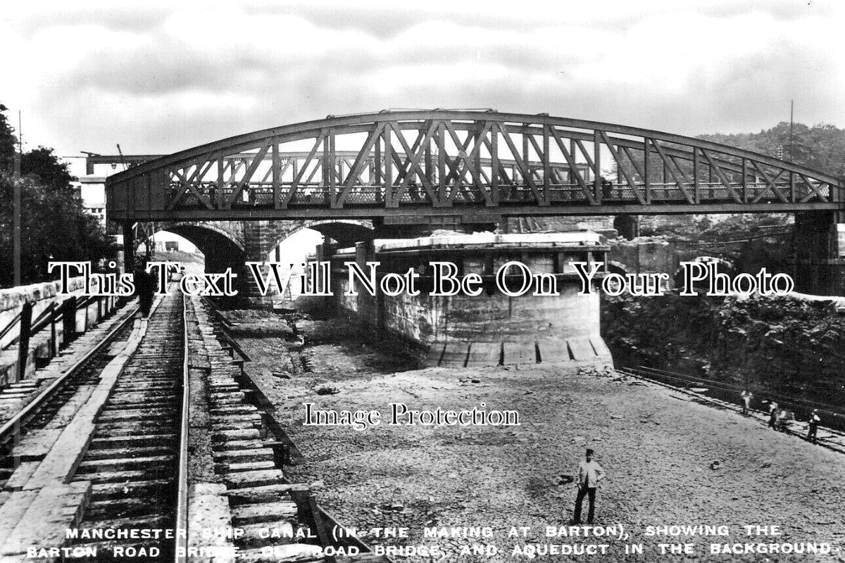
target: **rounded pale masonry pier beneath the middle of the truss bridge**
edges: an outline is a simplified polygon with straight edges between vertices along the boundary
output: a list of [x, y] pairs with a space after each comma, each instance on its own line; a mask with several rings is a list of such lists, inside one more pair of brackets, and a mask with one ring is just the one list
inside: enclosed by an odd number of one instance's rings
[[[373, 252], [359, 245], [356, 252], [340, 252], [332, 258], [332, 291], [335, 305], [358, 317], [375, 332], [405, 338], [428, 351], [432, 365], [509, 365], [571, 360], [612, 361], [600, 336], [599, 295], [578, 295], [580, 281], [571, 262], [603, 260], [606, 247], [597, 241], [531, 246], [526, 241], [491, 241], [488, 246], [463, 244], [465, 237], [438, 242], [426, 237], [416, 243], [384, 244]], [[422, 242], [419, 242], [422, 241]], [[472, 241], [466, 238], [466, 241]], [[585, 244], [586, 243], [586, 244]], [[344, 295], [349, 289], [344, 262], [363, 265], [378, 260], [379, 273], [404, 273], [409, 267], [439, 260], [459, 265], [462, 273], [482, 273], [488, 290], [482, 295], [432, 296], [425, 290], [427, 278], [419, 280], [420, 295], [402, 293], [390, 296], [368, 295], [357, 287], [358, 295]], [[508, 260], [517, 259], [534, 273], [555, 273], [559, 295], [519, 297], [504, 295], [494, 287], [492, 271]], [[487, 264], [487, 265], [485, 265]]]

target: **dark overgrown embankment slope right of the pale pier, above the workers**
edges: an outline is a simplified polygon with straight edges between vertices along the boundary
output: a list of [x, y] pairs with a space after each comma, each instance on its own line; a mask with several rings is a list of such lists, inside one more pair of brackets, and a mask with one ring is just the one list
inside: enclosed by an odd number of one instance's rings
[[602, 333], [619, 365], [845, 405], [845, 316], [831, 301], [602, 295]]

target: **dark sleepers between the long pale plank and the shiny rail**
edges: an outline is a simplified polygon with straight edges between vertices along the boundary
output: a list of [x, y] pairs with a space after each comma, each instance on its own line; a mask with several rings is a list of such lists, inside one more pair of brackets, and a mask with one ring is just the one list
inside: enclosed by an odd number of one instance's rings
[[73, 543], [96, 552], [100, 560], [103, 555], [172, 560], [175, 555], [184, 332], [182, 295], [161, 300], [138, 349], [95, 416], [93, 436], [76, 467], [73, 481], [91, 485], [80, 530], [161, 533], [151, 538]]

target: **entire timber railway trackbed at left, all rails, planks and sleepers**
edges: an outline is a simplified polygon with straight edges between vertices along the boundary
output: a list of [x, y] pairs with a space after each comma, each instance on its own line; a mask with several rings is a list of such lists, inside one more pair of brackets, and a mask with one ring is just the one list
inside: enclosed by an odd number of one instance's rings
[[209, 303], [135, 312], [0, 429], [0, 561], [390, 561], [286, 479], [296, 448]]

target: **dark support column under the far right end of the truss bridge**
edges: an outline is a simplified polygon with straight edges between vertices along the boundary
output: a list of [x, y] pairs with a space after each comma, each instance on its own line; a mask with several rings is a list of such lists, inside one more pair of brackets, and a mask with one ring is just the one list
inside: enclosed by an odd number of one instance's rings
[[833, 212], [795, 214], [795, 290], [815, 295], [845, 295], [843, 221], [842, 214]]

